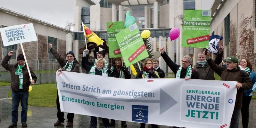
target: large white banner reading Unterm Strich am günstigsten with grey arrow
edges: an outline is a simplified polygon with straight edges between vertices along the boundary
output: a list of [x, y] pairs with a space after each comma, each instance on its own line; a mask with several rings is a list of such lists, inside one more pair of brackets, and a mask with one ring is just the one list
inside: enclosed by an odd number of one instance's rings
[[62, 112], [189, 128], [228, 128], [234, 81], [120, 79], [56, 72]]

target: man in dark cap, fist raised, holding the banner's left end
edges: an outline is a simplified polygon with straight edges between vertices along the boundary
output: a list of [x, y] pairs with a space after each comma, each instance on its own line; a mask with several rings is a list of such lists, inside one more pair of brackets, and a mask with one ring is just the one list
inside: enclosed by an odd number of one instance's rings
[[[76, 60], [75, 55], [72, 51], [67, 52], [67, 54], [66, 54], [67, 60], [66, 60], [59, 54], [59, 52], [57, 52], [53, 48], [52, 44], [49, 44], [49, 48], [50, 48], [50, 51], [52, 52], [52, 54], [54, 55], [55, 59], [58, 60], [60, 66], [63, 67], [63, 68], [58, 69], [58, 71], [69, 71], [69, 72], [78, 72], [79, 73], [79, 64], [78, 64], [78, 61]], [[57, 92], [56, 104], [57, 104], [57, 110], [58, 110], [58, 112], [57, 112], [58, 120], [56, 123], [54, 123], [55, 126], [60, 125], [60, 124], [64, 123], [64, 121], [65, 121], [64, 113], [61, 112], [61, 108], [60, 108], [58, 92]], [[68, 113], [67, 119], [68, 119], [68, 123], [67, 123], [66, 127], [73, 126], [74, 113]]]

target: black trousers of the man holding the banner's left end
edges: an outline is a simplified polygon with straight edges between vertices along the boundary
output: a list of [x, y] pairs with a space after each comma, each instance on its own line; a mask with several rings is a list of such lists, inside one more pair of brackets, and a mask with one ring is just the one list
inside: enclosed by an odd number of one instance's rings
[[[57, 112], [58, 120], [64, 121], [64, 120], [65, 120], [65, 118], [64, 118], [64, 112], [61, 112], [60, 100], [59, 100], [58, 92], [57, 92], [56, 104], [57, 104], [57, 110], [58, 110], [58, 112]], [[74, 113], [68, 113], [67, 119], [68, 119], [68, 122], [73, 123]]]

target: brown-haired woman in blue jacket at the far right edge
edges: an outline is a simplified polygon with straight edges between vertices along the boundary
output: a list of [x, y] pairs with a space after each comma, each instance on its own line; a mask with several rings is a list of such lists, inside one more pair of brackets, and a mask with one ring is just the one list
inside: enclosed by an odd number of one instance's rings
[[247, 128], [249, 123], [249, 105], [252, 99], [252, 92], [255, 92], [256, 90], [256, 74], [254, 71], [252, 71], [252, 63], [250, 60], [248, 60], [248, 58], [242, 58], [238, 65], [241, 70], [244, 70], [245, 72], [250, 74], [249, 77], [251, 78], [253, 84], [252, 89], [244, 90], [242, 100], [242, 124], [243, 128]]

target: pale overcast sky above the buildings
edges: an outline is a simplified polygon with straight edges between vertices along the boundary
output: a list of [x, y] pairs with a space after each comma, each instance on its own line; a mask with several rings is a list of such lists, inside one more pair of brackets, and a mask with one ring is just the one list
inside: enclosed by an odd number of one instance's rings
[[[94, 1], [99, 3], [100, 0]], [[202, 9], [210, 10], [213, 1], [202, 0]], [[74, 0], [0, 0], [0, 7], [63, 28], [66, 21], [74, 21]]]

